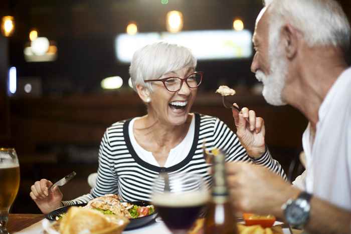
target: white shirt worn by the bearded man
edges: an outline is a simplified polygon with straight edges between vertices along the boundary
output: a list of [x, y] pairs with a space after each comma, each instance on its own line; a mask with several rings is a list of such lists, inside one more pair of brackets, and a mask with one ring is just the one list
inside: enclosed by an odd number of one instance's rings
[[[302, 135], [302, 145], [306, 191], [351, 210], [351, 68], [338, 77], [320, 105], [313, 145], [310, 125]], [[301, 187], [301, 181], [294, 184]]]

